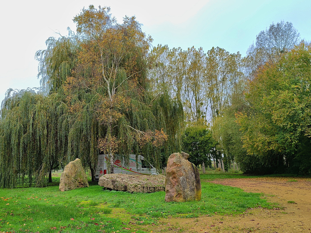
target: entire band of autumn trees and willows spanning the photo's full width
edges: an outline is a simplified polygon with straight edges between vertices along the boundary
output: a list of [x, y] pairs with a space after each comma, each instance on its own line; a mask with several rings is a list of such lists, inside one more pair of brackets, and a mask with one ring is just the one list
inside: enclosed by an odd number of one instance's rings
[[[310, 173], [310, 46], [289, 22], [258, 34], [247, 55], [152, 47], [135, 17], [83, 8], [77, 33], [39, 50], [39, 90], [9, 89], [1, 106], [0, 186], [42, 186], [80, 158], [140, 154], [157, 169], [177, 151], [244, 172]], [[26, 179], [27, 178], [27, 179]]]

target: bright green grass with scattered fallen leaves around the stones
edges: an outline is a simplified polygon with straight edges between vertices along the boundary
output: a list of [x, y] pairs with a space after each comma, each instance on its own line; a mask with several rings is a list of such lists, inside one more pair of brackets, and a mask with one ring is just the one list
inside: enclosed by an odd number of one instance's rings
[[202, 199], [187, 203], [166, 203], [165, 192], [108, 191], [96, 184], [67, 192], [59, 192], [56, 185], [0, 189], [0, 232], [139, 233], [143, 232], [139, 230], [140, 225], [156, 225], [168, 216], [235, 215], [248, 208], [274, 207], [261, 194], [205, 182], [215, 176], [245, 177], [201, 175]]

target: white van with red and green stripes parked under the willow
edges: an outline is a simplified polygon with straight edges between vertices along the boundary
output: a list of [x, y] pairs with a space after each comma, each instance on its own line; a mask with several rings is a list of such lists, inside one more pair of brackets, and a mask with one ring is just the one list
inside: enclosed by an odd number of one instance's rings
[[[95, 180], [107, 173], [107, 163], [109, 155], [98, 155], [98, 163], [95, 171]], [[107, 161], [107, 162], [106, 162]], [[137, 164], [138, 163], [138, 164]], [[141, 155], [129, 155], [128, 160], [122, 159], [120, 155], [114, 155], [115, 174], [135, 174], [135, 175], [158, 175], [156, 169]]]

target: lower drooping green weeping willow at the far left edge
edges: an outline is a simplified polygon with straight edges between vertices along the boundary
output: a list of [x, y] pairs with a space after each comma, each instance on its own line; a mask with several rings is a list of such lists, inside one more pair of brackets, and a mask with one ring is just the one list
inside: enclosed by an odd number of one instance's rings
[[16, 181], [43, 185], [52, 169], [60, 167], [61, 148], [67, 144], [67, 106], [57, 94], [45, 96], [33, 89], [7, 91], [0, 124], [0, 186], [15, 187]]

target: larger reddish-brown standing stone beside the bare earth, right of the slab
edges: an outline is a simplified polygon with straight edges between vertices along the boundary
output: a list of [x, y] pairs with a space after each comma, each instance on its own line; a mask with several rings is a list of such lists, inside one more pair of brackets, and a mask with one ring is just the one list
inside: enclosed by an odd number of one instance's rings
[[197, 167], [189, 155], [182, 152], [169, 156], [165, 178], [165, 202], [201, 200], [201, 180]]

